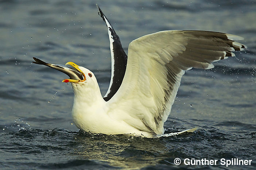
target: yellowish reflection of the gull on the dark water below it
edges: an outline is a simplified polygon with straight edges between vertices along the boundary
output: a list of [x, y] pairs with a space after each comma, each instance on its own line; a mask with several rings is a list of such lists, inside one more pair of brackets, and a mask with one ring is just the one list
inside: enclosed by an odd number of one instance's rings
[[110, 166], [140, 168], [154, 166], [170, 147], [159, 142], [159, 138], [143, 138], [130, 135], [75, 134], [79, 143], [74, 154], [79, 159], [108, 162]]

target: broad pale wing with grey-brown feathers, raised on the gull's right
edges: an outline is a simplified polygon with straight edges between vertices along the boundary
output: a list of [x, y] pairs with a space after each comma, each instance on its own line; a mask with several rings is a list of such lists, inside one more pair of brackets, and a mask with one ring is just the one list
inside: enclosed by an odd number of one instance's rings
[[108, 103], [116, 105], [111, 108], [127, 124], [163, 134], [185, 71], [210, 69], [212, 62], [235, 56], [232, 51], [247, 48], [234, 41], [242, 39], [208, 31], [161, 31], [133, 40], [123, 83]]

